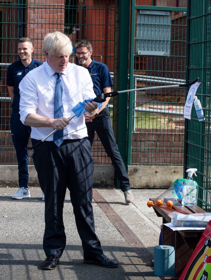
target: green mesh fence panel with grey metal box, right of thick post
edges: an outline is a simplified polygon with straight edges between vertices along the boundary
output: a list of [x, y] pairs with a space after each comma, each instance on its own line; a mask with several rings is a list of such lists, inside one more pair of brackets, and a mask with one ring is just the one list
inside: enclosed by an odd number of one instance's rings
[[[133, 0], [130, 88], [182, 84], [186, 79], [186, 1]], [[128, 165], [182, 166], [184, 89], [129, 95]]]

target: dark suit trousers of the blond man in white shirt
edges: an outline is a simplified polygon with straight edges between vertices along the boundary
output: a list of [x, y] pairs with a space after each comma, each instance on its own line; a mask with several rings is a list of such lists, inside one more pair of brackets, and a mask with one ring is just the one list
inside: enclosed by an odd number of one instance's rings
[[43, 249], [46, 256], [61, 257], [66, 245], [63, 206], [67, 187], [84, 257], [101, 255], [92, 208], [94, 165], [90, 142], [87, 138], [64, 140], [59, 148], [53, 142], [44, 142], [34, 149], [33, 160], [45, 194]]

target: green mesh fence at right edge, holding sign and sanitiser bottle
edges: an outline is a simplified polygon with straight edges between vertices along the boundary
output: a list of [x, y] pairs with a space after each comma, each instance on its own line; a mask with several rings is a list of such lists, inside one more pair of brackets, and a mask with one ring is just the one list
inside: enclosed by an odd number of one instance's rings
[[189, 1], [189, 38], [187, 79], [199, 77], [201, 84], [196, 95], [201, 102], [205, 121], [198, 121], [194, 108], [191, 120], [186, 121], [185, 168], [197, 168], [199, 185], [198, 205], [211, 211], [211, 2]]

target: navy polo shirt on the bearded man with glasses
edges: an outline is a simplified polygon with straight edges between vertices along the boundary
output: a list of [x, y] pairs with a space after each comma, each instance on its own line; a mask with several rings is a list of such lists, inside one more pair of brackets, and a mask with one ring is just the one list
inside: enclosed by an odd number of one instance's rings
[[103, 89], [107, 86], [114, 85], [107, 65], [93, 59], [86, 69], [92, 78], [93, 90], [96, 95], [103, 93]]

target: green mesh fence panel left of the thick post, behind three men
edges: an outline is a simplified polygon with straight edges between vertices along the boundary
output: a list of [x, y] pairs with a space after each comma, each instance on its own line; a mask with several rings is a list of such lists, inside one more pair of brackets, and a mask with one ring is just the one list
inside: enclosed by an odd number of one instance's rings
[[[1, 74], [1, 135], [0, 164], [17, 164], [11, 140], [11, 100], [6, 88], [8, 65], [18, 60], [18, 39], [29, 37], [33, 41], [33, 58], [45, 61], [42, 43], [45, 34], [58, 30], [72, 40], [86, 39], [93, 46], [92, 57], [105, 63], [114, 76], [115, 17], [118, 8], [115, 0], [11, 0], [0, 3], [0, 74]], [[69, 62], [78, 63], [76, 56]], [[112, 102], [111, 102], [112, 104]], [[111, 109], [112, 112], [112, 109]], [[29, 146], [31, 141], [29, 140]], [[110, 164], [97, 135], [93, 145], [93, 159], [98, 164]], [[29, 151], [32, 164], [32, 151]]]

